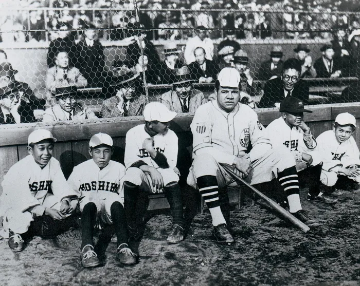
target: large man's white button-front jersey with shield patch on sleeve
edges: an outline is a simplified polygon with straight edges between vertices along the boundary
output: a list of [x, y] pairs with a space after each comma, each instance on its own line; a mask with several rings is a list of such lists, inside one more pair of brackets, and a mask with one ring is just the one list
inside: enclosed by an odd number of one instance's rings
[[241, 103], [229, 113], [223, 111], [216, 100], [201, 105], [195, 112], [190, 128], [194, 158], [204, 151], [219, 163], [232, 164], [236, 157], [247, 153], [250, 142], [253, 147], [249, 152], [251, 161], [259, 159], [271, 149], [258, 115]]

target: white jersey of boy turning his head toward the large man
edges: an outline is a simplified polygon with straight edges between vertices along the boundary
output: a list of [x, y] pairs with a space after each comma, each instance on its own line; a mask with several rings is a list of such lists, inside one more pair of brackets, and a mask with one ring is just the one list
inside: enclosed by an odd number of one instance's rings
[[[151, 138], [151, 136], [145, 131], [145, 124], [135, 126], [127, 132], [125, 139], [125, 167], [129, 168], [135, 163], [142, 161], [149, 166], [159, 168], [148, 151], [142, 147], [142, 143], [147, 138]], [[156, 134], [153, 138], [154, 148], [166, 157], [169, 168], [175, 168], [178, 150], [175, 132], [169, 129], [167, 134]]]

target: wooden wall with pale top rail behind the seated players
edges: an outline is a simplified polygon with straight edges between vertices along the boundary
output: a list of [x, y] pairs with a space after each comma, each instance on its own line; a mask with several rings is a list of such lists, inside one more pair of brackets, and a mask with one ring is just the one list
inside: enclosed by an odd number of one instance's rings
[[[312, 134], [317, 137], [321, 132], [332, 128], [335, 117], [341, 112], [350, 112], [360, 126], [360, 103], [329, 104], [309, 106], [313, 113], [305, 113], [305, 122], [309, 124]], [[280, 116], [275, 108], [256, 110], [259, 120], [268, 125]], [[190, 132], [192, 115], [177, 116], [172, 125], [177, 134]], [[58, 122], [54, 125], [44, 123], [11, 124], [0, 126], [0, 182], [9, 168], [27, 155], [26, 145], [29, 134], [38, 128], [50, 130], [58, 139], [54, 157], [61, 163], [65, 176], [69, 176], [74, 166], [89, 159], [88, 140], [98, 132], [105, 132], [114, 139], [115, 153], [113, 159], [123, 161], [126, 132], [142, 124], [142, 117], [98, 119], [87, 122]], [[186, 133], [185, 133], [186, 134]], [[360, 132], [355, 130], [354, 138], [358, 144]], [[0, 195], [2, 194], [0, 188]]]

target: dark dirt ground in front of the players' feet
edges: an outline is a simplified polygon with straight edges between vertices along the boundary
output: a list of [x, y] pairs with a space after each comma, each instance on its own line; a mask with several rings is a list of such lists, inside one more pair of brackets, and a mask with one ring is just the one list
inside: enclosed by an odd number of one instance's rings
[[303, 234], [263, 201], [247, 199], [231, 212], [231, 246], [214, 242], [208, 212], [194, 218], [185, 241], [167, 244], [170, 216], [156, 214], [146, 224], [134, 266], [120, 265], [111, 243], [103, 266], [82, 268], [75, 228], [57, 239], [35, 237], [17, 254], [2, 240], [0, 285], [360, 285], [359, 205], [360, 192], [345, 193], [333, 207], [303, 200], [322, 223]]

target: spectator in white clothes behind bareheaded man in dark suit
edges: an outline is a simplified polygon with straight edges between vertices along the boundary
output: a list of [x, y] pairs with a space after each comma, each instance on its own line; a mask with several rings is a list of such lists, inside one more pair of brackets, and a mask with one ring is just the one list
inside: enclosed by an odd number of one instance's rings
[[188, 65], [195, 62], [194, 49], [197, 47], [203, 47], [206, 52], [206, 59], [212, 60], [214, 55], [214, 44], [212, 40], [207, 37], [207, 32], [204, 26], [199, 26], [194, 30], [195, 36], [190, 38], [186, 42], [184, 51], [185, 63]]

